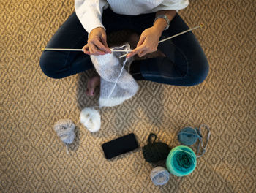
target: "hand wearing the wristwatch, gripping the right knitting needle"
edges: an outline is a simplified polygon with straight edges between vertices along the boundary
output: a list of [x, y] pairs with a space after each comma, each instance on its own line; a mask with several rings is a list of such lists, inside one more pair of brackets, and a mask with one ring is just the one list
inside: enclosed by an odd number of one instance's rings
[[161, 33], [154, 27], [145, 29], [140, 35], [140, 40], [137, 47], [127, 55], [127, 58], [138, 54], [139, 57], [145, 56], [147, 53], [157, 51], [157, 46]]

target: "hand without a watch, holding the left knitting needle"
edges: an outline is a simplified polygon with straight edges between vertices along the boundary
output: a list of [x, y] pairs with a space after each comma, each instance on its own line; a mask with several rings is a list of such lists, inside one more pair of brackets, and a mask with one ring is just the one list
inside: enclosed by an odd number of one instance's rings
[[107, 44], [107, 35], [102, 27], [91, 30], [87, 44], [83, 46], [83, 52], [88, 55], [105, 55], [111, 53]]

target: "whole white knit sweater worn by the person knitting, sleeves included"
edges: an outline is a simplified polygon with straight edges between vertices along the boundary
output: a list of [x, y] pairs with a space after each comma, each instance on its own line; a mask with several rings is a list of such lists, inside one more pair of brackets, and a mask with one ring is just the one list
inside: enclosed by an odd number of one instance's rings
[[122, 15], [140, 15], [159, 10], [181, 10], [189, 0], [75, 0], [75, 12], [84, 29], [91, 30], [102, 25], [102, 12], [110, 7]]

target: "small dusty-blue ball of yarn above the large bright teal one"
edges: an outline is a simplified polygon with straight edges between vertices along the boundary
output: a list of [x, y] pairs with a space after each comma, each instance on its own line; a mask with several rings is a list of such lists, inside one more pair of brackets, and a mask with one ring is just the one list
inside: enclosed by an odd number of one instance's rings
[[193, 145], [200, 138], [197, 131], [191, 127], [185, 127], [178, 132], [178, 141], [183, 145]]

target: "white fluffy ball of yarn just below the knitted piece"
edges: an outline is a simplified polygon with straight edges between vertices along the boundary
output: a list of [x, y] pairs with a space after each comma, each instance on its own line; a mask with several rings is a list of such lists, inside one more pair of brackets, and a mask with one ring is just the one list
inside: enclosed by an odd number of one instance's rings
[[90, 132], [97, 132], [100, 129], [99, 111], [94, 108], [84, 108], [80, 113], [80, 122], [86, 126]]

